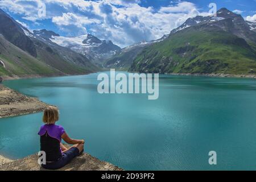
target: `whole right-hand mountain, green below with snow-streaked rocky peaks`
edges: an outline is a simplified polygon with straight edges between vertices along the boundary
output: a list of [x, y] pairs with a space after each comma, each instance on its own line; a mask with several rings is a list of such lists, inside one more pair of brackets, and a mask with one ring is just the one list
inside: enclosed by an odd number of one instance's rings
[[251, 74], [256, 71], [256, 33], [225, 8], [217, 16], [189, 18], [170, 36], [143, 49], [129, 71]]

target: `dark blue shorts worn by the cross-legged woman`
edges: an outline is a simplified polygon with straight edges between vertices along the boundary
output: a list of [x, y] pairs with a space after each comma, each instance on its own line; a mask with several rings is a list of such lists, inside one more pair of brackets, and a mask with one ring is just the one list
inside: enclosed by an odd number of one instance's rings
[[59, 169], [67, 165], [73, 158], [79, 155], [79, 149], [76, 147], [69, 148], [68, 151], [63, 152], [61, 158], [56, 162], [42, 164], [45, 169]]

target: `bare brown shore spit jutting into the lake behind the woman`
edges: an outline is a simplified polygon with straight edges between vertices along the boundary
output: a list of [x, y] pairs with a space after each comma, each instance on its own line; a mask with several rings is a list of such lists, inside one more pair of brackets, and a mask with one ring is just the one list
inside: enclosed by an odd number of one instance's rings
[[34, 97], [27, 97], [0, 85], [0, 118], [43, 111], [49, 106]]

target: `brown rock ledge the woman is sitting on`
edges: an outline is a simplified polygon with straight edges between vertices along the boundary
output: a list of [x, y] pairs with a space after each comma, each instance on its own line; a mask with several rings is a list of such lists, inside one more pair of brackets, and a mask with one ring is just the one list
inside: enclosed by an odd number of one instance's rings
[[[0, 171], [48, 171], [38, 164], [38, 155], [30, 155], [26, 158], [14, 160], [9, 163], [0, 163]], [[102, 162], [89, 154], [82, 154], [73, 159], [57, 171], [122, 171], [121, 168], [108, 162]]]

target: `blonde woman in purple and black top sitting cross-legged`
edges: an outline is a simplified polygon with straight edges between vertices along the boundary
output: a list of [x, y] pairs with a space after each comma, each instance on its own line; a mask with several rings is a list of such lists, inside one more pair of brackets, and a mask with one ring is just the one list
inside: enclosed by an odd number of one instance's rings
[[[46, 152], [46, 164], [42, 164], [46, 169], [59, 169], [67, 165], [73, 158], [84, 152], [84, 140], [71, 139], [62, 126], [55, 125], [59, 120], [59, 110], [57, 107], [49, 106], [44, 110], [43, 122], [41, 126], [40, 146], [41, 151]], [[66, 148], [61, 139], [72, 147]]]

